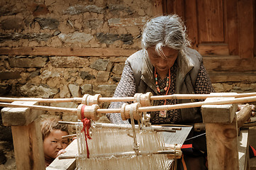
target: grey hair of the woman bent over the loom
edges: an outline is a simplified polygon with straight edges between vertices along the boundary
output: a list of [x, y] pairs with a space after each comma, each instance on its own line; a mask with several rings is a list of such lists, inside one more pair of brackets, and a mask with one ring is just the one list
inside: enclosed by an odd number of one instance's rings
[[162, 47], [184, 50], [190, 45], [186, 27], [177, 15], [152, 18], [145, 24], [141, 42], [143, 50], [155, 46], [158, 54], [163, 54]]

